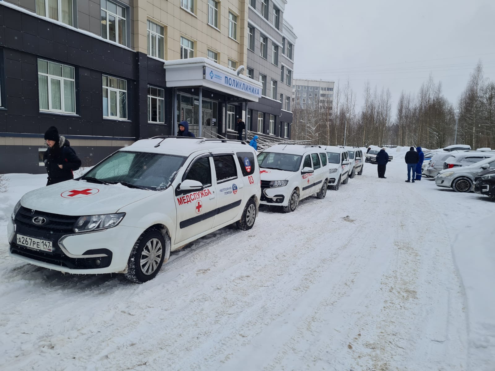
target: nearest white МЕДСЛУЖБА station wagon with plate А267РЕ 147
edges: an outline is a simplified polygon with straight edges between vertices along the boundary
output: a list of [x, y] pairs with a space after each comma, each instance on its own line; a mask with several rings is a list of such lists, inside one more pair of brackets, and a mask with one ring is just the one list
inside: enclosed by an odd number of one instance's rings
[[9, 254], [61, 272], [145, 282], [170, 251], [234, 222], [250, 229], [260, 195], [246, 143], [142, 139], [81, 178], [22, 196], [8, 223]]

